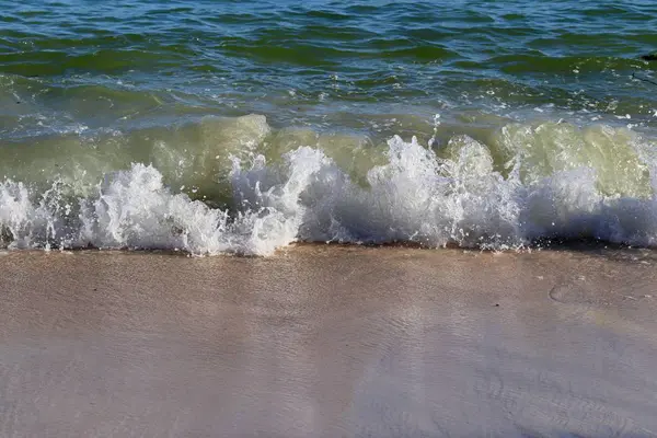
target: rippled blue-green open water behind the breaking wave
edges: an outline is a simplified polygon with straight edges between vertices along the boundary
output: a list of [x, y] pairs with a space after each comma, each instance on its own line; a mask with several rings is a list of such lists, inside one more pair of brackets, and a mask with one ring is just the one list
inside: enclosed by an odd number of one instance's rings
[[653, 1], [1, 5], [4, 139], [207, 114], [366, 131], [379, 114], [657, 118], [657, 85], [632, 79], [653, 73]]

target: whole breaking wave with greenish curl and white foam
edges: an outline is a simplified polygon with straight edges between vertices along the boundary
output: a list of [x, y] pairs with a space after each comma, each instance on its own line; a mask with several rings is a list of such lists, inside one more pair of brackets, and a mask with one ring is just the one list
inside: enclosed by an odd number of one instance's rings
[[[175, 169], [157, 163], [104, 172], [77, 191], [72, 180], [44, 186], [19, 174], [0, 183], [2, 245], [269, 255], [296, 241], [484, 250], [544, 239], [657, 243], [655, 145], [626, 129], [511, 124], [487, 143], [457, 135], [430, 148], [394, 136], [359, 150], [308, 135], [295, 137], [307, 145], [283, 141], [263, 116], [232, 123], [241, 137], [223, 130], [232, 149], [217, 155], [226, 174], [203, 175], [226, 184], [227, 203], [168, 184]], [[345, 165], [364, 151], [367, 169]], [[188, 174], [199, 170], [208, 168]]]

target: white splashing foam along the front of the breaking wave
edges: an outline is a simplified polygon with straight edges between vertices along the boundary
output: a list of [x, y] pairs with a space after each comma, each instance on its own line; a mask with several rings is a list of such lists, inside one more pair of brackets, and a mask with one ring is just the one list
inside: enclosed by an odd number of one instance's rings
[[10, 247], [166, 249], [192, 254], [272, 254], [296, 240], [417, 242], [481, 249], [520, 247], [537, 238], [597, 238], [653, 245], [655, 198], [607, 198], [593, 170], [581, 168], [523, 185], [520, 160], [494, 171], [488, 150], [468, 138], [441, 160], [394, 137], [389, 163], [367, 186], [332, 160], [299, 148], [281, 165], [234, 159], [234, 209], [211, 209], [174, 194], [143, 164], [105, 176], [96, 193], [67, 200], [59, 184], [44, 193], [0, 184], [0, 227]]

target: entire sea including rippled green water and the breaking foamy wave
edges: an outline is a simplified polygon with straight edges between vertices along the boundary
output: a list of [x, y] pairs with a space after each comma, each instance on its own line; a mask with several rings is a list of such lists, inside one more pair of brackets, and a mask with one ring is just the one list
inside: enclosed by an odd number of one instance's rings
[[653, 1], [0, 5], [5, 246], [657, 241]]

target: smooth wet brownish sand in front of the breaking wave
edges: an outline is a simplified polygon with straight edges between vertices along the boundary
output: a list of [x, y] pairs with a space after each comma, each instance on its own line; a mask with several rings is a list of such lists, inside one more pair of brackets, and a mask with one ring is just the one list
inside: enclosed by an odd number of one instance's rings
[[657, 436], [657, 255], [0, 256], [0, 436]]

